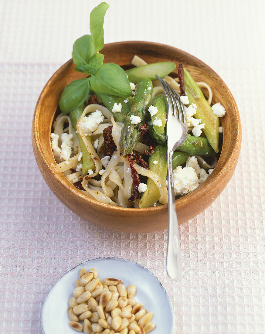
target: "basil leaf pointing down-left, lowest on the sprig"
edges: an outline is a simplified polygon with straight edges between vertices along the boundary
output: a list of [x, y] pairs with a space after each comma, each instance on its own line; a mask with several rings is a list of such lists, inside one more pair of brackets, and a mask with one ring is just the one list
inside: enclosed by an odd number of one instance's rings
[[90, 78], [74, 80], [65, 87], [59, 102], [63, 114], [66, 115], [85, 102], [90, 91], [89, 81]]

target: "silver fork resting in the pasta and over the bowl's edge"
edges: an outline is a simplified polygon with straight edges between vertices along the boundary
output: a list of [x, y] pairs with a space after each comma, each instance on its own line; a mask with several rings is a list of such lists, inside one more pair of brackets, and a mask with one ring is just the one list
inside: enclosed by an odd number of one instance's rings
[[173, 152], [184, 142], [187, 136], [187, 120], [178, 94], [164, 79], [160, 78], [158, 75], [156, 75], [156, 77], [161, 83], [168, 101], [168, 117], [166, 124], [169, 198], [167, 272], [172, 280], [178, 280], [181, 277], [181, 249], [175, 204], [172, 158]]

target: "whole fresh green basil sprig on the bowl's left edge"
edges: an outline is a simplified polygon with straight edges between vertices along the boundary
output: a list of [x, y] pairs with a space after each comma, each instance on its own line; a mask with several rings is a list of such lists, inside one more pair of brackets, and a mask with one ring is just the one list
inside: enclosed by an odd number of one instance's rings
[[73, 45], [72, 57], [78, 72], [90, 74], [89, 78], [74, 80], [61, 95], [59, 106], [63, 114], [85, 102], [91, 89], [99, 93], [127, 98], [132, 95], [130, 82], [124, 70], [114, 63], [102, 64], [104, 55], [98, 53], [104, 46], [104, 16], [106, 2], [100, 3], [90, 13], [91, 35], [78, 38]]

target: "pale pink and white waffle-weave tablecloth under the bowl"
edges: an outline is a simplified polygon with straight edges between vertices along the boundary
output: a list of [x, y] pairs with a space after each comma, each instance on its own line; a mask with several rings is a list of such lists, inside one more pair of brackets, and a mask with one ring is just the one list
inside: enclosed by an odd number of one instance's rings
[[49, 190], [33, 156], [38, 96], [71, 57], [74, 40], [89, 33], [99, 1], [0, 1], [0, 332], [41, 333], [42, 304], [64, 273], [89, 259], [119, 257], [162, 282], [176, 333], [265, 333], [265, 2], [108, 2], [105, 43], [169, 44], [223, 78], [240, 111], [240, 159], [220, 197], [180, 226], [183, 275], [172, 283], [167, 231], [119, 233], [84, 221]]

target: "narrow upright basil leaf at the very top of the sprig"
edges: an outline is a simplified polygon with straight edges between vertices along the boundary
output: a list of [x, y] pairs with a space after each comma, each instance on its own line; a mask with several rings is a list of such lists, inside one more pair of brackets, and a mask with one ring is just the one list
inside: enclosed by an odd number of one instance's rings
[[104, 46], [104, 16], [109, 5], [106, 2], [101, 2], [90, 13], [90, 33], [96, 51], [100, 51]]

